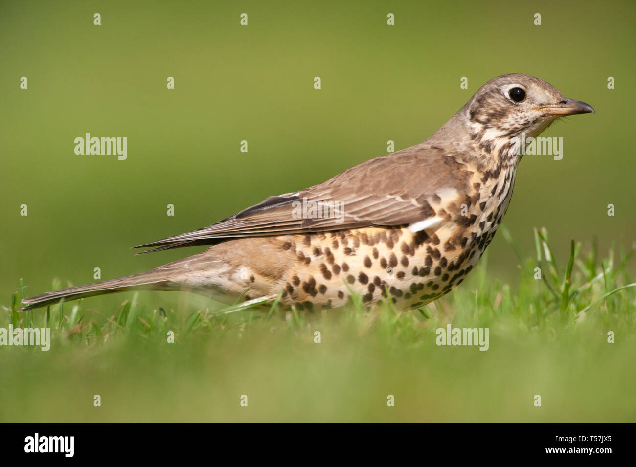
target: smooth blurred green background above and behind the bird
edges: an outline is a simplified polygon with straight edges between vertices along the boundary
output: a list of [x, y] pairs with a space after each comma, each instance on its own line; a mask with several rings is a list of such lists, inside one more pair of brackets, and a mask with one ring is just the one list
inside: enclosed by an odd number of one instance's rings
[[[240, 13], [249, 25], [239, 24]], [[631, 245], [635, 13], [633, 1], [3, 0], [0, 302], [8, 304], [20, 278], [34, 295], [55, 277], [62, 286], [92, 282], [94, 267], [113, 278], [194, 254], [202, 248], [137, 257], [129, 248], [322, 182], [387, 153], [387, 140], [396, 150], [417, 144], [488, 79], [508, 72], [545, 79], [597, 112], [544, 133], [563, 137], [562, 160], [523, 159], [504, 221], [522, 252], [534, 251], [532, 228], [541, 226], [562, 263], [570, 238], [590, 245], [598, 235], [601, 250], [612, 241]], [[609, 76], [616, 89], [607, 88]], [[77, 156], [74, 139], [85, 133], [128, 137], [127, 160]], [[249, 152], [239, 151], [241, 140]], [[166, 215], [169, 203], [174, 217]], [[493, 278], [514, 283], [518, 261], [501, 234], [488, 258]], [[148, 309], [180, 300], [140, 297]], [[122, 298], [93, 297], [90, 307], [111, 314]], [[391, 377], [389, 367], [370, 384]], [[563, 395], [577, 387], [569, 384]], [[18, 396], [20, 382], [12, 387]], [[499, 407], [489, 403], [484, 410]], [[440, 406], [431, 418], [445, 414]]]

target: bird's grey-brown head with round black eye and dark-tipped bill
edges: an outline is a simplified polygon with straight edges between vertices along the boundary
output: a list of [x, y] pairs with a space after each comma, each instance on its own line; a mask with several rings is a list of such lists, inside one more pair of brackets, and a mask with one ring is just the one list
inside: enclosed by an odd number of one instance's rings
[[513, 138], [537, 137], [557, 118], [594, 113], [580, 100], [563, 95], [550, 83], [527, 74], [493, 78], [474, 94], [460, 111], [471, 139], [492, 151], [508, 147]]

